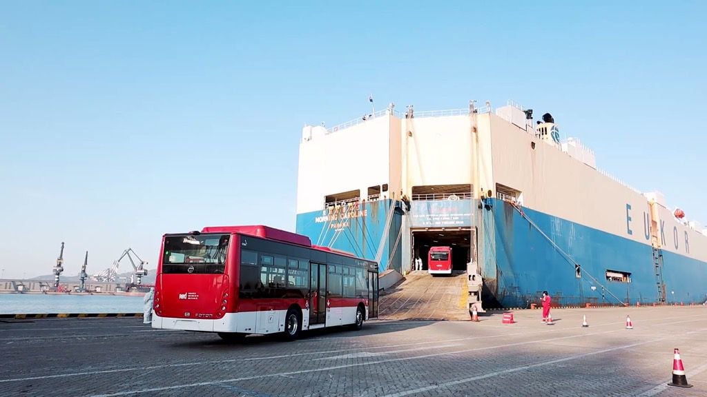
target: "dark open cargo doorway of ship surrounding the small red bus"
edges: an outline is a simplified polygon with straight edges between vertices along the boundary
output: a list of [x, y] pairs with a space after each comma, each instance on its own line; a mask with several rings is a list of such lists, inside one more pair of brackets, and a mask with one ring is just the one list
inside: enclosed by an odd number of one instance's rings
[[422, 270], [428, 269], [428, 253], [430, 247], [452, 247], [452, 271], [466, 271], [469, 262], [469, 238], [472, 231], [468, 228], [461, 230], [413, 230], [412, 250], [413, 259], [422, 260]]

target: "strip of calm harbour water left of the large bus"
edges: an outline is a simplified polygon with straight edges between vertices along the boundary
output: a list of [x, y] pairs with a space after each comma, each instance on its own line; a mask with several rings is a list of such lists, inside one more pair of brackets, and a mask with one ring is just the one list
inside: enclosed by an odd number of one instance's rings
[[144, 297], [0, 294], [0, 314], [142, 313]]

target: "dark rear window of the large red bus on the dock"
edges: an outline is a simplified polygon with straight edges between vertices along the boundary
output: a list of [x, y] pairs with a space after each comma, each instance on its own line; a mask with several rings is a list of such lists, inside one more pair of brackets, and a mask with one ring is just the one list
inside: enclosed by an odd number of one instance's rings
[[170, 235], [165, 237], [163, 273], [223, 273], [230, 235]]

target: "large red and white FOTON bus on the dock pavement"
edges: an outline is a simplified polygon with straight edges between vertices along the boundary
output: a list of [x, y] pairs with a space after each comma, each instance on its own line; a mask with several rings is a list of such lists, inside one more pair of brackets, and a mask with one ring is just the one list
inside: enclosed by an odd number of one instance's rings
[[152, 328], [225, 340], [350, 325], [378, 317], [378, 264], [257, 226], [163, 236]]

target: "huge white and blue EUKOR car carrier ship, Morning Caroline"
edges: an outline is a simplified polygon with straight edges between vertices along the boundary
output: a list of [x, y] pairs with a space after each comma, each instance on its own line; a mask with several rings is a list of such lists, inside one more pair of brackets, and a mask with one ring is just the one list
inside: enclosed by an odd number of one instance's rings
[[407, 274], [452, 247], [469, 304], [695, 304], [707, 299], [707, 230], [597, 167], [549, 113], [399, 112], [305, 126], [296, 232]]

